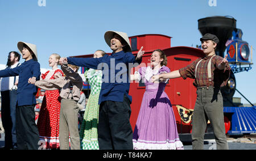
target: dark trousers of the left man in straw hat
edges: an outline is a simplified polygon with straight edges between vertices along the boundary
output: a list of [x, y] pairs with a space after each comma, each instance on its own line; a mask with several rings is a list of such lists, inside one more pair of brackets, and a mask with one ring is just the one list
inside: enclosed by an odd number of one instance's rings
[[39, 132], [35, 124], [35, 105], [16, 108], [16, 135], [19, 150], [38, 150]]

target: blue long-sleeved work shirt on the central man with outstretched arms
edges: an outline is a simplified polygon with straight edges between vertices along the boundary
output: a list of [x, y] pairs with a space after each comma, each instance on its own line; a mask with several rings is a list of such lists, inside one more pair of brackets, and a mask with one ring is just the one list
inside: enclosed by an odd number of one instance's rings
[[[98, 104], [102, 101], [123, 101], [126, 95], [131, 103], [129, 96], [129, 66], [135, 67], [139, 65], [141, 60], [136, 61], [135, 56], [131, 52], [112, 53], [110, 56], [105, 54], [101, 58], [68, 58], [68, 63], [77, 66], [88, 67], [92, 69], [102, 70], [102, 84], [100, 98]], [[129, 64], [130, 63], [130, 64]]]

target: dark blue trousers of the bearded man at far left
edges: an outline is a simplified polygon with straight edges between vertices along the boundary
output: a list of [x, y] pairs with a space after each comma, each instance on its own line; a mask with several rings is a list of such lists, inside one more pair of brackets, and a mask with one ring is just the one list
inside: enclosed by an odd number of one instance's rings
[[16, 147], [16, 104], [17, 90], [2, 91], [2, 122], [5, 129], [5, 149]]

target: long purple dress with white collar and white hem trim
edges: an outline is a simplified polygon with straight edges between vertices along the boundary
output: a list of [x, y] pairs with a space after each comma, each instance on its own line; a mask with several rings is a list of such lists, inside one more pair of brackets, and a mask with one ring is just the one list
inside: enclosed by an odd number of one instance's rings
[[134, 149], [183, 149], [183, 143], [177, 133], [174, 111], [171, 107], [164, 88], [166, 82], [148, 82], [152, 75], [169, 73], [166, 66], [152, 70], [151, 67], [141, 67], [139, 79], [142, 79], [146, 86], [141, 109], [137, 118], [133, 133]]

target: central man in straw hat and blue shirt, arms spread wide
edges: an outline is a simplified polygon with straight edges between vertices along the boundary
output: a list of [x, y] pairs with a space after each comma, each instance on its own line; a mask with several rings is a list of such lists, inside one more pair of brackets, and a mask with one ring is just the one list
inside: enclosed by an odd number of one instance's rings
[[[100, 149], [133, 149], [133, 130], [130, 124], [130, 68], [142, 62], [144, 51], [137, 57], [131, 53], [129, 38], [124, 32], [108, 31], [105, 41], [113, 50], [101, 58], [61, 58], [77, 66], [102, 70], [99, 98], [98, 143]], [[135, 65], [134, 65], [135, 64]]]

